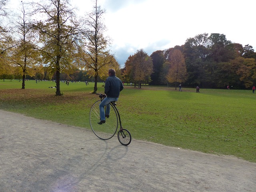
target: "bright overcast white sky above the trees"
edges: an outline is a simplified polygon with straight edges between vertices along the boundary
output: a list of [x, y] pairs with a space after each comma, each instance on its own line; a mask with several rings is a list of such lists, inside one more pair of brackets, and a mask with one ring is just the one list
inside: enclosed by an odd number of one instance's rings
[[[80, 14], [94, 6], [94, 0], [70, 2]], [[203, 33], [224, 34], [227, 40], [249, 44], [256, 51], [256, 0], [98, 0], [98, 5], [106, 9], [110, 50], [121, 67], [139, 49], [150, 56]]]

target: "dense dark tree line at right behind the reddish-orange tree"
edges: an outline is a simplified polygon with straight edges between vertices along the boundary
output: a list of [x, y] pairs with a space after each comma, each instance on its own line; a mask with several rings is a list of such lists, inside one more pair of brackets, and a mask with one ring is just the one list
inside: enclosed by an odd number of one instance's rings
[[170, 58], [174, 50], [180, 50], [185, 59], [187, 80], [184, 86], [249, 88], [256, 84], [256, 53], [252, 46], [232, 43], [218, 33], [199, 34], [188, 38], [182, 46], [153, 52], [150, 55], [154, 66], [151, 84], [168, 82], [166, 77], [172, 67]]

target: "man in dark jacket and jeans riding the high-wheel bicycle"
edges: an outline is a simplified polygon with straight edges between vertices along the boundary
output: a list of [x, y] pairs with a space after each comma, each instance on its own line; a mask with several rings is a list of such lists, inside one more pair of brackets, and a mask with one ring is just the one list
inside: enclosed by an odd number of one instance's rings
[[[116, 77], [116, 71], [114, 69], [108, 70], [108, 78], [105, 82], [105, 94], [106, 98], [100, 103], [100, 122], [98, 124], [106, 123], [106, 118], [109, 118], [110, 114], [110, 102], [118, 101], [120, 91], [124, 89], [122, 81]], [[106, 106], [106, 114], [104, 112], [104, 106]]]

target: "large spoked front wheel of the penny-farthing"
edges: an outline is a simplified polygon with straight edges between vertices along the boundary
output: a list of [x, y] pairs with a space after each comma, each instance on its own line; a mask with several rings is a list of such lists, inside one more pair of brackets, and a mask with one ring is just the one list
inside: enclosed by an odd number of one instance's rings
[[[103, 140], [112, 138], [116, 134], [118, 128], [118, 118], [116, 110], [110, 104], [110, 115], [109, 118], [106, 118], [106, 123], [98, 124], [100, 122], [100, 100], [96, 101], [90, 110], [90, 126], [94, 134]], [[106, 108], [106, 106], [105, 106]]]

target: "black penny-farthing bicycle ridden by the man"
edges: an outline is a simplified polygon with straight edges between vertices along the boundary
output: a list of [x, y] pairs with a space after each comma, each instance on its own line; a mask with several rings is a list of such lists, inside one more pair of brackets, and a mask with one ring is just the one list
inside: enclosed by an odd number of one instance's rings
[[[100, 96], [100, 100], [96, 101], [90, 110], [90, 126], [92, 128], [92, 131], [94, 134], [103, 140], [108, 140], [112, 138], [117, 131], [118, 128], [118, 122], [120, 124], [120, 129], [117, 134], [118, 141], [122, 145], [129, 145], [132, 141], [132, 136], [130, 132], [126, 129], [122, 128], [121, 124], [121, 118], [120, 114], [118, 112], [118, 109], [116, 108], [116, 103], [110, 102], [110, 114], [109, 116], [106, 116], [106, 123], [104, 124], [98, 124], [100, 121], [100, 102], [106, 97], [105, 94], [98, 93]], [[105, 112], [106, 112], [106, 106], [105, 106]], [[105, 113], [106, 114], [106, 113]]]

